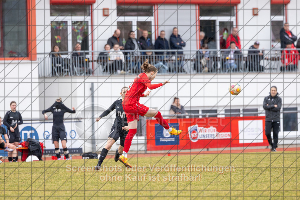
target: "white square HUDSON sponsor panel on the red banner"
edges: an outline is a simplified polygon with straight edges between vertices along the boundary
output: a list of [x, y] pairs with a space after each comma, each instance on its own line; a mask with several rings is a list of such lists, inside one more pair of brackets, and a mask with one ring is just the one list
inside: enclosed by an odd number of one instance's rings
[[263, 142], [262, 120], [238, 121], [238, 133], [238, 142], [240, 144]]

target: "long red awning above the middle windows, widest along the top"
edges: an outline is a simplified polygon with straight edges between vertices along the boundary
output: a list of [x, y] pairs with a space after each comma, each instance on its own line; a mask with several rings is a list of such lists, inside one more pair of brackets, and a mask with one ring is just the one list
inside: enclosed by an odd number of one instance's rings
[[[283, 0], [282, 0], [283, 1]], [[117, 0], [117, 4], [207, 4], [237, 5], [241, 0]]]

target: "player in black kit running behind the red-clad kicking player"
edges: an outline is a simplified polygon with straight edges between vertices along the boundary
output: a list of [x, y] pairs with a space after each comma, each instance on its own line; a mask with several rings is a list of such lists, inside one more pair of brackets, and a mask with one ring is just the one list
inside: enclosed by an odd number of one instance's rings
[[110, 131], [110, 134], [108, 136], [107, 144], [102, 149], [100, 157], [99, 157], [98, 164], [97, 164], [97, 166], [95, 166], [96, 170], [99, 170], [101, 168], [101, 164], [102, 164], [103, 160], [105, 159], [108, 151], [110, 150], [110, 148], [113, 146], [113, 144], [119, 138], [120, 138], [120, 145], [119, 145], [119, 148], [117, 148], [117, 150], [116, 150], [116, 155], [115, 155], [115, 161], [116, 162], [118, 162], [120, 154], [123, 153], [125, 138], [127, 136], [128, 130], [129, 130], [128, 124], [127, 124], [127, 118], [126, 118], [126, 115], [125, 115], [125, 112], [124, 112], [123, 106], [122, 106], [122, 101], [124, 100], [127, 89], [128, 89], [128, 87], [123, 87], [121, 89], [121, 93], [120, 93], [122, 95], [122, 99], [116, 100], [113, 103], [113, 105], [111, 105], [109, 107], [109, 109], [104, 111], [96, 119], [96, 121], [98, 122], [98, 121], [100, 121], [101, 118], [105, 117], [110, 112], [112, 112], [114, 109], [116, 109], [116, 119], [115, 119], [113, 127]]

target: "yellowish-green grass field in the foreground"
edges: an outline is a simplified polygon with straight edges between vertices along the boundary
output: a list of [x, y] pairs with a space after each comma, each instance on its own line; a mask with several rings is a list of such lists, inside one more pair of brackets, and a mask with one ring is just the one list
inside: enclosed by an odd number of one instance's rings
[[[130, 159], [131, 165], [139, 166], [131, 170], [106, 159], [104, 166], [114, 168], [104, 167], [100, 172], [91, 170], [98, 162], [96, 159], [2, 163], [0, 196], [5, 199], [299, 199], [299, 156], [299, 152], [286, 151], [141, 157]], [[191, 165], [192, 170], [182, 168]]]

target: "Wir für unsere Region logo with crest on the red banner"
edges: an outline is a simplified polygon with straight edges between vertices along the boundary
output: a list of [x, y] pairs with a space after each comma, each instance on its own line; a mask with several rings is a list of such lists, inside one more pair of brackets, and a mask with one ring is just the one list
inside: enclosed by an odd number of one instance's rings
[[230, 139], [231, 132], [217, 132], [216, 127], [198, 127], [198, 124], [187, 128], [190, 141], [197, 142], [202, 139]]

